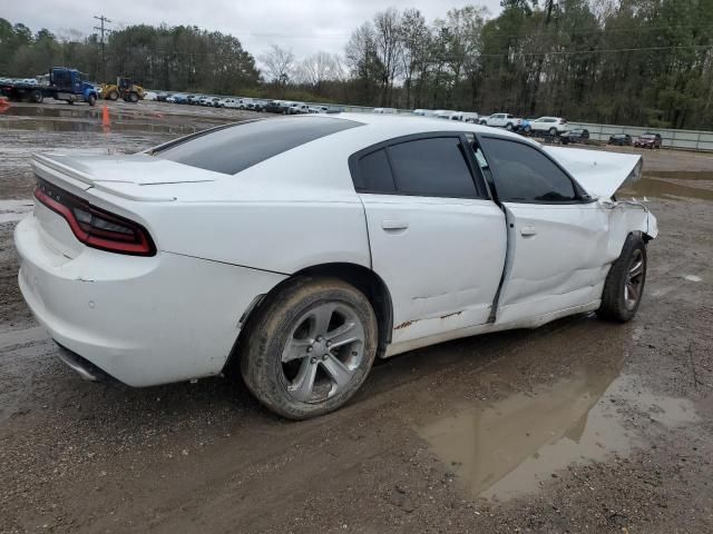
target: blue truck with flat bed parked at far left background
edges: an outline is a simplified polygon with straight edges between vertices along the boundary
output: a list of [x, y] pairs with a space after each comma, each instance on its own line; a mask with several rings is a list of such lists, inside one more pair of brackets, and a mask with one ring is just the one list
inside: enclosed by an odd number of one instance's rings
[[94, 106], [99, 97], [97, 88], [86, 81], [85, 75], [77, 69], [53, 67], [49, 71], [49, 83], [3, 82], [0, 85], [0, 95], [10, 100], [26, 100], [41, 103], [46, 98], [65, 100], [69, 103], [87, 102]]

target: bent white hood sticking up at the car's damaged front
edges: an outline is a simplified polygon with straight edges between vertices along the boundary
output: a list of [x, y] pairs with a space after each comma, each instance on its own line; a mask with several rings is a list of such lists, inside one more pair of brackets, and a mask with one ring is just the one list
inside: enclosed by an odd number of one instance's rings
[[544, 148], [593, 197], [611, 198], [623, 186], [641, 178], [642, 157], [638, 155], [584, 148]]

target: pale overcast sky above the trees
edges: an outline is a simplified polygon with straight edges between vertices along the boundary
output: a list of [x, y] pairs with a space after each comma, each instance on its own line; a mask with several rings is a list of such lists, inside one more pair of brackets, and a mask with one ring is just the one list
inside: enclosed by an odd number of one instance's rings
[[[237, 37], [243, 47], [260, 56], [270, 44], [292, 48], [299, 56], [318, 50], [342, 52], [351, 31], [377, 11], [389, 6], [418, 8], [427, 20], [443, 17], [453, 7], [485, 6], [491, 14], [499, 0], [0, 0], [0, 17], [23, 22], [32, 31], [47, 28], [62, 34], [67, 30], [91, 33], [104, 14], [111, 27], [138, 23], [193, 24]], [[90, 8], [90, 6], [95, 8]], [[94, 11], [92, 11], [94, 9]]]

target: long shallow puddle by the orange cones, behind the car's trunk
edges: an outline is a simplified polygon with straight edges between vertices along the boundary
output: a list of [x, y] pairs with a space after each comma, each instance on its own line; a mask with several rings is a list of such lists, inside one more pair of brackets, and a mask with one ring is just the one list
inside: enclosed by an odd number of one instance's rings
[[211, 125], [162, 125], [139, 122], [111, 122], [105, 127], [98, 121], [87, 122], [77, 120], [36, 120], [36, 119], [7, 119], [0, 120], [0, 130], [30, 130], [30, 131], [58, 131], [58, 132], [124, 132], [144, 131], [152, 134], [187, 135], [208, 128]]

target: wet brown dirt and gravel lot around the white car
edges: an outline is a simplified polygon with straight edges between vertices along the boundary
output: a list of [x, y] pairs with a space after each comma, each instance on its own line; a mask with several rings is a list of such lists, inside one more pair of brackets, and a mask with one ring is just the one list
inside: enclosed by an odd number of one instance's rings
[[634, 322], [416, 350], [287, 423], [227, 379], [82, 382], [16, 280], [29, 152], [134, 151], [244, 115], [115, 105], [105, 132], [43, 107], [0, 117], [1, 532], [713, 532], [713, 158], [644, 155], [632, 194], [661, 235]]

